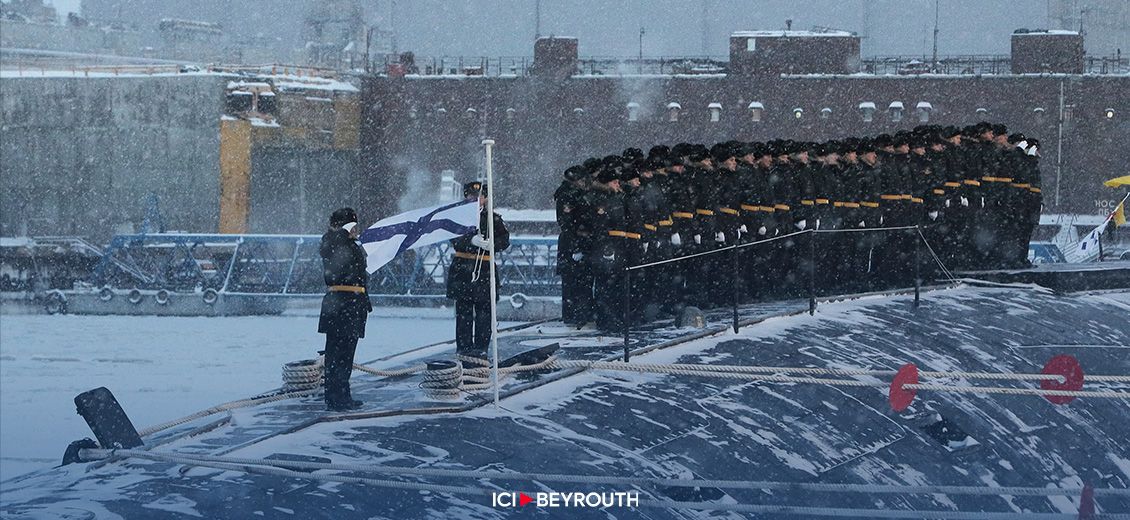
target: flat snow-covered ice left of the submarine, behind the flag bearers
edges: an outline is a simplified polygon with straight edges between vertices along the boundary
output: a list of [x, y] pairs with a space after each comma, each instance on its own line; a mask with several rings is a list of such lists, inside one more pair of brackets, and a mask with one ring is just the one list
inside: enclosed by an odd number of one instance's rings
[[[318, 318], [0, 315], [0, 480], [92, 436], [76, 395], [106, 387], [138, 428], [281, 384], [323, 346]], [[359, 362], [453, 337], [450, 310], [377, 309]]]

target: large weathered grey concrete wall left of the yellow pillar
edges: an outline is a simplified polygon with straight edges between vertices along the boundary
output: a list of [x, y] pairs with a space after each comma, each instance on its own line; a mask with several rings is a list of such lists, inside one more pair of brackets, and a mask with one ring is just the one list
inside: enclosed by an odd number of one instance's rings
[[228, 79], [0, 79], [0, 235], [104, 241], [150, 192], [169, 229], [215, 232]]

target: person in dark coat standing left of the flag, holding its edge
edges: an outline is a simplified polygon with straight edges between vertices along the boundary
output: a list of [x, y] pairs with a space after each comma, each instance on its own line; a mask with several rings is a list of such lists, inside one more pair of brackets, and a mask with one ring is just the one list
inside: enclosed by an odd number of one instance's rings
[[322, 297], [318, 331], [325, 335], [325, 406], [333, 411], [360, 408], [349, 392], [357, 339], [365, 337], [365, 320], [373, 304], [365, 293], [368, 272], [365, 250], [357, 243], [357, 213], [341, 208], [330, 216], [319, 252], [328, 292]]

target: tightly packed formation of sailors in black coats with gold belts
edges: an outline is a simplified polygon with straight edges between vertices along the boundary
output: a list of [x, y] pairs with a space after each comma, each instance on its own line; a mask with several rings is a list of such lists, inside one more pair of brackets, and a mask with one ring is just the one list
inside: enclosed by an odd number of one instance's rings
[[[1042, 203], [1037, 150], [1035, 139], [979, 123], [827, 142], [683, 142], [585, 161], [566, 168], [554, 194], [563, 318], [619, 330], [625, 319], [686, 305], [807, 294], [810, 277], [837, 293], [910, 285], [915, 262], [927, 277], [939, 265], [1025, 267]], [[760, 241], [737, 259], [698, 254]]]

